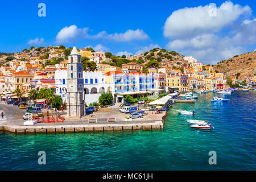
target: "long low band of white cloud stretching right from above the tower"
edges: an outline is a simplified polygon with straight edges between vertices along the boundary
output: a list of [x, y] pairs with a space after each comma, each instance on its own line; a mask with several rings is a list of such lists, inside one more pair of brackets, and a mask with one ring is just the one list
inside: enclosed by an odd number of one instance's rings
[[89, 28], [77, 28], [76, 25], [64, 27], [56, 36], [57, 43], [70, 42], [77, 39], [108, 39], [116, 42], [129, 42], [131, 40], [146, 40], [149, 36], [140, 29], [127, 30], [124, 33], [108, 34], [106, 31], [101, 31], [96, 35], [88, 34]]

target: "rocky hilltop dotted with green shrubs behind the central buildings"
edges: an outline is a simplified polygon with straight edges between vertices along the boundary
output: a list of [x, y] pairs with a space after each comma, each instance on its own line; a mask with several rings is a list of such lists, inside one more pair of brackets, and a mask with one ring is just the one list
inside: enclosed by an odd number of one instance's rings
[[[141, 58], [140, 58], [141, 57]], [[159, 68], [162, 67], [188, 67], [188, 61], [183, 59], [183, 56], [175, 51], [166, 49], [154, 48], [149, 52], [144, 52], [139, 55], [129, 56], [128, 60], [143, 60], [143, 64], [147, 64], [150, 60], [159, 62]]]

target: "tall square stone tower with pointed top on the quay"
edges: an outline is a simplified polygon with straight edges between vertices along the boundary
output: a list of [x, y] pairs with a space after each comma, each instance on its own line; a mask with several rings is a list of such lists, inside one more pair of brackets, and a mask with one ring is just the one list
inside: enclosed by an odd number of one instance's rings
[[67, 117], [80, 118], [85, 113], [84, 80], [81, 56], [73, 47], [67, 64]]

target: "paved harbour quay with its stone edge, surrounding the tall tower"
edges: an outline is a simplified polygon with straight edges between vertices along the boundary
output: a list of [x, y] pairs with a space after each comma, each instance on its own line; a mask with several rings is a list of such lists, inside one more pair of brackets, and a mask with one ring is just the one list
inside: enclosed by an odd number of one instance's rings
[[[3, 108], [5, 107], [5, 108]], [[10, 107], [10, 108], [6, 108]], [[108, 108], [102, 108], [93, 114], [86, 115], [80, 119], [65, 118], [63, 122], [43, 123], [39, 122], [33, 126], [24, 126], [23, 118], [15, 117], [13, 109], [16, 113], [24, 113], [18, 107], [0, 104], [0, 111], [5, 110], [6, 118], [0, 121], [0, 130], [10, 131], [12, 133], [77, 133], [77, 132], [93, 132], [93, 131], [122, 131], [122, 130], [159, 130], [163, 129], [162, 118], [164, 113], [155, 114], [147, 112], [143, 118], [125, 121], [125, 117], [129, 114], [120, 113], [117, 105]], [[65, 117], [65, 114], [63, 115]], [[45, 117], [46, 118], [46, 117]], [[108, 122], [108, 118], [114, 118], [115, 121]], [[97, 119], [97, 123], [89, 123], [89, 119]]]

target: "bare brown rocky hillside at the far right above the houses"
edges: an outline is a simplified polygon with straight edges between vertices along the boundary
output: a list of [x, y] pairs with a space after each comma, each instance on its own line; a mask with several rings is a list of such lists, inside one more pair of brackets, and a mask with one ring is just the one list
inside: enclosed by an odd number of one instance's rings
[[218, 72], [225, 73], [226, 76], [236, 76], [237, 73], [240, 73], [240, 78], [245, 75], [254, 76], [256, 75], [256, 52], [236, 55], [217, 63], [213, 68]]

